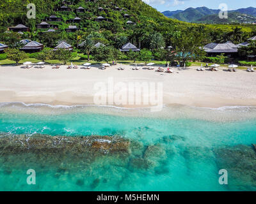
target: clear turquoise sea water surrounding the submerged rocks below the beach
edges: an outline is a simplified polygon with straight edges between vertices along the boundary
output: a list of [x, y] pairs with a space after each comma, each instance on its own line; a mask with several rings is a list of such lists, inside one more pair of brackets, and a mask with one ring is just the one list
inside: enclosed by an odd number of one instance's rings
[[[97, 108], [96, 108], [97, 109]], [[57, 154], [13, 154], [0, 160], [1, 191], [255, 191], [256, 170], [250, 164], [225, 166], [216, 157], [221, 149], [256, 143], [255, 109], [244, 111], [195, 110], [174, 107], [161, 113], [115, 108], [56, 108], [24, 105], [0, 107], [0, 133], [63, 136], [118, 135], [140, 147], [122, 159], [115, 155], [92, 162]], [[131, 113], [132, 112], [132, 113]], [[197, 113], [200, 117], [196, 119]], [[191, 114], [190, 114], [191, 113]], [[231, 114], [231, 115], [230, 115]], [[185, 115], [185, 116], [184, 116]], [[205, 117], [204, 115], [207, 115]], [[216, 116], [219, 119], [216, 119]], [[211, 117], [212, 116], [212, 117]], [[234, 117], [236, 117], [234, 119]], [[214, 118], [214, 120], [212, 119]], [[143, 157], [145, 148], [158, 145], [161, 154], [150, 156], [148, 168], [134, 166], [132, 159]], [[247, 147], [246, 147], [247, 148]], [[241, 153], [241, 152], [240, 152]], [[234, 154], [237, 161], [243, 152]], [[245, 154], [245, 153], [244, 153]], [[253, 153], [252, 153], [253, 154]], [[250, 156], [252, 156], [252, 154]], [[56, 159], [56, 161], [54, 160]], [[220, 162], [221, 161], [221, 166]], [[251, 158], [244, 162], [252, 162]], [[231, 166], [230, 166], [231, 165]], [[232, 166], [233, 165], [233, 166]], [[61, 168], [60, 168], [61, 166]], [[244, 167], [243, 167], [244, 166]], [[230, 170], [228, 185], [220, 185], [220, 168]], [[239, 168], [237, 170], [236, 168]], [[246, 169], [241, 169], [246, 168]], [[26, 171], [36, 171], [36, 185], [28, 185]], [[63, 170], [64, 169], [64, 170]], [[243, 172], [241, 178], [235, 175]], [[233, 175], [232, 175], [233, 174]], [[247, 175], [244, 177], [244, 174]], [[238, 179], [237, 179], [238, 178]]]

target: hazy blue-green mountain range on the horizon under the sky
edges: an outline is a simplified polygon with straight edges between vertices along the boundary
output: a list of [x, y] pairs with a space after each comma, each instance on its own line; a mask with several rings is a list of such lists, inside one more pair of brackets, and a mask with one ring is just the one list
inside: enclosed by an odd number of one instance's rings
[[[227, 22], [227, 23], [231, 23], [231, 22], [251, 22], [253, 20], [252, 16], [256, 17], [256, 8], [253, 7], [248, 7], [248, 8], [240, 8], [238, 10], [233, 10], [233, 11], [229, 11], [228, 14], [230, 13], [236, 13], [236, 14], [232, 14], [232, 19], [228, 16], [228, 18], [230, 19], [220, 19], [220, 18], [216, 18], [216, 15], [218, 15], [218, 13], [220, 12], [220, 10], [213, 10], [210, 8], [207, 8], [205, 6], [203, 7], [198, 7], [198, 8], [188, 8], [184, 11], [164, 11], [163, 15], [165, 15], [166, 17], [169, 18], [176, 18], [178, 20], [182, 20], [185, 22], [207, 22], [209, 24], [214, 24], [214, 23], [218, 23], [220, 22]], [[239, 14], [238, 14], [239, 13]], [[236, 15], [236, 17], [235, 17]], [[243, 16], [243, 15], [250, 15], [250, 17], [244, 17], [239, 19], [239, 15]], [[238, 18], [237, 18], [238, 17]], [[212, 20], [211, 20], [212, 18]], [[246, 18], [246, 19], [245, 19]], [[255, 21], [255, 20], [254, 20]]]

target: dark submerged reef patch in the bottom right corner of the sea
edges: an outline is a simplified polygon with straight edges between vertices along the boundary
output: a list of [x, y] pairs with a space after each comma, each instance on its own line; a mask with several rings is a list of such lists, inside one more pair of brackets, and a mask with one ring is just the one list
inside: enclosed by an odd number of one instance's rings
[[228, 186], [241, 191], [256, 190], [256, 152], [252, 147], [236, 145], [214, 152], [218, 168], [228, 171], [228, 184], [232, 184]]

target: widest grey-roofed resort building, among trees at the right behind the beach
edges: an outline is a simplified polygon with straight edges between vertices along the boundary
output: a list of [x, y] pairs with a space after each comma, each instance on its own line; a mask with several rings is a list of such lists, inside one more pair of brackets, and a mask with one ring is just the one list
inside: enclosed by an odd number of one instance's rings
[[204, 50], [208, 56], [216, 56], [222, 53], [229, 57], [237, 55], [237, 45], [230, 41], [227, 41], [227, 43], [209, 43], [205, 45]]

